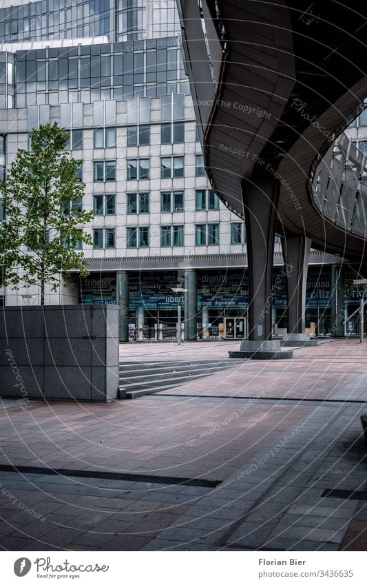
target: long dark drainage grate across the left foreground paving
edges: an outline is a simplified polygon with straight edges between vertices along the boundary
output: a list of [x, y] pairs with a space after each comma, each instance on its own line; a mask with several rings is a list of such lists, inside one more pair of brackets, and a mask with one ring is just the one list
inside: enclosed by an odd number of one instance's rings
[[43, 475], [65, 475], [66, 477], [96, 478], [98, 480], [118, 480], [123, 482], [144, 482], [152, 484], [182, 485], [193, 487], [216, 488], [222, 481], [202, 480], [200, 478], [169, 478], [164, 475], [143, 475], [141, 473], [113, 473], [111, 471], [83, 471], [78, 469], [51, 469], [50, 467], [33, 467], [30, 465], [0, 465], [0, 471], [17, 473], [41, 473]]

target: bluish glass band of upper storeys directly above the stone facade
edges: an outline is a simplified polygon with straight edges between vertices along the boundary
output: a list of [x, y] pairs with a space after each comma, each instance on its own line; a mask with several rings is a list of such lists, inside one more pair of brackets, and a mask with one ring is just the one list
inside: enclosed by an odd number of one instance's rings
[[[17, 51], [14, 83], [4, 83], [3, 88], [0, 61], [3, 107], [8, 103], [8, 96], [12, 98], [13, 94], [15, 107], [25, 107], [127, 100], [136, 96], [156, 98], [173, 93], [174, 107], [180, 110], [179, 104], [182, 103], [183, 94], [189, 92], [189, 84], [180, 51], [175, 50], [178, 54], [177, 63], [171, 69], [171, 47], [178, 44], [178, 39], [173, 37], [132, 43]], [[5, 62], [3, 69], [6, 70]], [[5, 73], [3, 79], [6, 79]], [[169, 99], [171, 101], [171, 96]], [[145, 123], [144, 116], [140, 116], [138, 123]], [[134, 134], [133, 130], [131, 132]], [[149, 128], [146, 127], [141, 128], [140, 132], [135, 130], [142, 143], [149, 143], [147, 132]], [[177, 127], [177, 139], [179, 134], [180, 128]]]

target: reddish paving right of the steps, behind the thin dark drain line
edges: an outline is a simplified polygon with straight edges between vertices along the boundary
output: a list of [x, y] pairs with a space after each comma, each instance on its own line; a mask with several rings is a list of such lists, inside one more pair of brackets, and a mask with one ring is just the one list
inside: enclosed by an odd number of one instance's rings
[[366, 376], [366, 371], [367, 343], [341, 340], [296, 349], [291, 360], [248, 360], [228, 371], [162, 393], [367, 400], [367, 379], [359, 387], [359, 379]]

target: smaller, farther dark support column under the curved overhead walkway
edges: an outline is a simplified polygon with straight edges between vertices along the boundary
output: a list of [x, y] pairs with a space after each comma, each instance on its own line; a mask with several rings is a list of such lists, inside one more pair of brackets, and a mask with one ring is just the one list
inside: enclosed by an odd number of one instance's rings
[[304, 334], [304, 311], [306, 307], [306, 283], [311, 240], [306, 236], [282, 238], [284, 258], [283, 273], [286, 277], [288, 305], [288, 333]]

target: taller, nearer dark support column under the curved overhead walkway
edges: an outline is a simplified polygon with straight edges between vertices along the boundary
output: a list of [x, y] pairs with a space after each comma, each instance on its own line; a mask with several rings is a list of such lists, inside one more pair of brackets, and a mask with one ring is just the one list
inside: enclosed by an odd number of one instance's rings
[[249, 266], [249, 340], [271, 340], [271, 277], [280, 184], [242, 184]]

